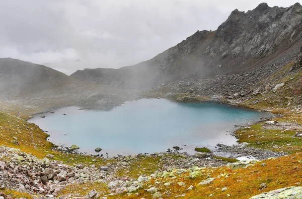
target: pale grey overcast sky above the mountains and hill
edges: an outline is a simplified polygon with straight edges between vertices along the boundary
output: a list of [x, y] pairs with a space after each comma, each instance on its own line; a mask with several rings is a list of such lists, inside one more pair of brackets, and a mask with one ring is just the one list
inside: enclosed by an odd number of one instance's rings
[[[0, 57], [71, 74], [148, 60], [263, 0], [0, 0]], [[288, 7], [297, 0], [267, 0]]]

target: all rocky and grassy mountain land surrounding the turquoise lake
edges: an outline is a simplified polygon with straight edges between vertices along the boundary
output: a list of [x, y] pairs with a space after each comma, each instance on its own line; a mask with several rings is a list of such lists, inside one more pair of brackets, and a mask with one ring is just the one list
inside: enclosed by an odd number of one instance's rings
[[[216, 31], [198, 31], [155, 58], [68, 77], [0, 59], [0, 198], [300, 198], [302, 6], [235, 10]], [[114, 88], [112, 88], [114, 87]], [[128, 91], [119, 90], [123, 88]], [[219, 101], [275, 119], [234, 134], [253, 154], [238, 161], [203, 149], [103, 158], [54, 146], [28, 118], [60, 106], [104, 106], [139, 97]], [[264, 155], [262, 155], [264, 154]], [[282, 195], [282, 196], [281, 196]], [[286, 195], [286, 196], [284, 196]]]

